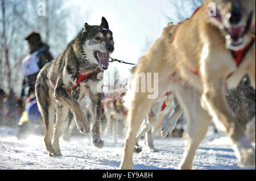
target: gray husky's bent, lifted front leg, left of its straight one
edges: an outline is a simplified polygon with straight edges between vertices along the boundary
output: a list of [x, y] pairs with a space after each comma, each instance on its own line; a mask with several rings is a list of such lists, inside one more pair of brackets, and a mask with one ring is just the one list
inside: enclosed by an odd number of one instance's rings
[[80, 104], [68, 94], [67, 90], [63, 89], [60, 78], [57, 80], [56, 87], [53, 92], [53, 98], [64, 103], [73, 112], [77, 128], [80, 130], [80, 132], [90, 132], [90, 124], [88, 120], [85, 119]]

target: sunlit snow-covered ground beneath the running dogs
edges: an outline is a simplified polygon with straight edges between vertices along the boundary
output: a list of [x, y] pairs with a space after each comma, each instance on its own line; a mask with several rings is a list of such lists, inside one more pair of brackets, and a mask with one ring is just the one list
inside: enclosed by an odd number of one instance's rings
[[[60, 139], [63, 157], [48, 157], [43, 136], [31, 135], [17, 140], [16, 129], [0, 127], [0, 169], [118, 169], [123, 154], [124, 139], [114, 144], [104, 138], [105, 146], [97, 149], [86, 136], [73, 136], [70, 142]], [[143, 140], [139, 142], [143, 146]], [[134, 154], [134, 169], [178, 169], [185, 149], [182, 138], [155, 138], [158, 153], [143, 150]], [[254, 144], [255, 147], [255, 144]], [[144, 147], [143, 147], [144, 148]], [[143, 149], [142, 148], [142, 149]], [[197, 149], [193, 169], [255, 169], [238, 165], [229, 138], [209, 129]]]

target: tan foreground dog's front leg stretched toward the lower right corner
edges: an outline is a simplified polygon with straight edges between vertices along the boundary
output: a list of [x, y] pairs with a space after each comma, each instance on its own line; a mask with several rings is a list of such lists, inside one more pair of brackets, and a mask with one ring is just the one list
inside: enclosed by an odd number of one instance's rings
[[245, 137], [245, 130], [234, 119], [232, 111], [228, 107], [228, 102], [224, 97], [225, 73], [228, 73], [229, 71], [228, 66], [221, 65], [216, 68], [215, 65], [213, 69], [213, 65], [207, 61], [202, 65], [202, 106], [213, 117], [216, 126], [224, 131], [233, 141], [234, 150], [242, 165], [255, 166], [255, 150], [251, 147], [249, 141]]

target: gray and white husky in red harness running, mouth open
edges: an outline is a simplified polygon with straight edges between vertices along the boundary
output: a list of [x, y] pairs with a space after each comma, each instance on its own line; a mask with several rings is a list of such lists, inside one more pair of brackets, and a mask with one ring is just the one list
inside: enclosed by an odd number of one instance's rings
[[69, 110], [75, 117], [77, 128], [82, 133], [90, 132], [90, 124], [77, 102], [86, 95], [92, 101], [93, 144], [97, 148], [104, 146], [100, 136], [102, 93], [97, 87], [102, 81], [102, 76], [98, 78], [99, 74], [108, 69], [109, 55], [113, 51], [112, 31], [109, 30], [107, 20], [102, 17], [100, 26], [85, 23], [84, 28], [56, 60], [46, 64], [40, 71], [35, 91], [43, 116], [44, 142], [49, 156], [61, 156], [59, 136]]

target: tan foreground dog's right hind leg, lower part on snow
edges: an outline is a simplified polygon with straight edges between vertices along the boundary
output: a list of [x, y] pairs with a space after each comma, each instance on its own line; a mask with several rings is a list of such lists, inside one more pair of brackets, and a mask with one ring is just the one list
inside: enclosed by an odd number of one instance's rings
[[[184, 99], [184, 95], [185, 99]], [[177, 99], [187, 120], [187, 147], [179, 169], [192, 169], [193, 157], [200, 142], [207, 133], [210, 117], [200, 105], [200, 94], [192, 87], [184, 85], [177, 90]]]

